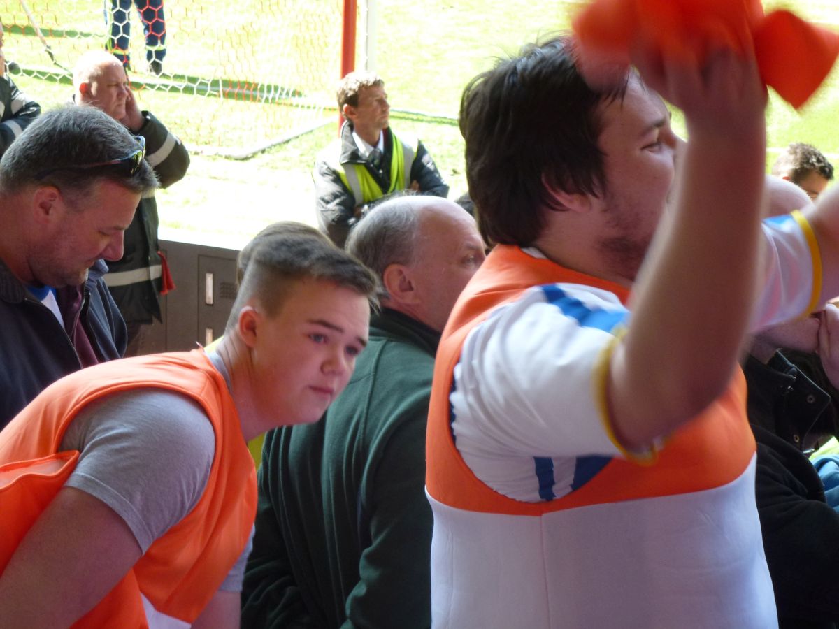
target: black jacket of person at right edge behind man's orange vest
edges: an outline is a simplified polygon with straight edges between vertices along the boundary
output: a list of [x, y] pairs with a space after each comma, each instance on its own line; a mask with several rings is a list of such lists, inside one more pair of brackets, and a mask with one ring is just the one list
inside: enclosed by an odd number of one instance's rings
[[801, 448], [813, 432], [835, 431], [837, 413], [814, 382], [830, 387], [817, 358], [800, 367], [780, 352], [768, 365], [748, 356], [743, 367], [758, 441], [758, 515], [780, 627], [835, 629], [839, 514], [826, 504], [821, 479]]

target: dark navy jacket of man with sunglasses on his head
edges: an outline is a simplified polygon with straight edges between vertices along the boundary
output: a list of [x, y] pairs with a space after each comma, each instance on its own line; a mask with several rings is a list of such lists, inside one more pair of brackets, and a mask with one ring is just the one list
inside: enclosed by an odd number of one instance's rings
[[[101, 260], [85, 283], [81, 325], [100, 361], [125, 352], [122, 317], [108, 293]], [[49, 308], [23, 287], [0, 260], [0, 429], [44, 388], [81, 369], [70, 337]]]

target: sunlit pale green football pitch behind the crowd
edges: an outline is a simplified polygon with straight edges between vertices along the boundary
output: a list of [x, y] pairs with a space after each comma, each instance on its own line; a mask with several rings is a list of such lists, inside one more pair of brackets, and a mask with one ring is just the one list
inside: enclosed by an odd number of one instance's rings
[[[791, 8], [813, 22], [839, 29], [835, 0], [764, 4], [767, 10]], [[71, 67], [81, 51], [98, 48], [107, 38], [101, 3], [29, 0], [26, 5], [60, 65]], [[394, 110], [420, 112], [419, 116], [392, 112], [393, 128], [423, 140], [451, 186], [451, 198], [466, 191], [462, 138], [456, 124], [446, 120], [456, 117], [463, 86], [521, 44], [567, 29], [571, 13], [580, 6], [580, 2], [544, 0], [375, 3], [375, 70], [386, 81]], [[310, 169], [317, 151], [337, 130], [337, 114], [330, 107], [340, 71], [341, 2], [164, 0], [164, 8], [168, 36], [164, 70], [172, 73], [171, 80], [164, 78], [155, 86], [155, 78], [143, 74], [143, 37], [136, 12], [131, 46], [138, 70], [133, 79], [149, 83], [149, 89], [138, 91], [141, 107], [154, 112], [196, 149], [186, 178], [159, 192], [163, 235], [238, 247], [269, 222], [314, 224]], [[0, 18], [7, 31], [8, 58], [23, 66], [58, 70], [45, 54], [23, 3], [0, 0]], [[357, 65], [363, 63], [362, 33], [360, 24]], [[300, 70], [304, 66], [312, 70]], [[67, 83], [30, 74], [16, 75], [14, 80], [44, 109], [70, 96]], [[242, 86], [243, 96], [219, 98], [211, 93], [214, 86], [225, 85]], [[294, 93], [270, 100], [265, 97], [268, 87]], [[314, 109], [304, 112], [298, 101]], [[839, 165], [837, 112], [839, 70], [800, 112], [771, 95], [768, 164], [778, 148], [807, 142]], [[301, 117], [299, 128], [322, 126], [249, 159], [213, 154], [212, 147], [253, 147], [284, 137], [292, 127], [283, 125], [294, 117]], [[678, 112], [674, 120], [677, 130], [683, 131]]]

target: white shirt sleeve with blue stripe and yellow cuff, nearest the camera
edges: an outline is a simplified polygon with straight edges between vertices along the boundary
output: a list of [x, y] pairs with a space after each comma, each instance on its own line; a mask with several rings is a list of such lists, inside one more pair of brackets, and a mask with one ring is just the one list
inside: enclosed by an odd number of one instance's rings
[[466, 337], [455, 367], [452, 431], [461, 454], [625, 454], [611, 437], [605, 383], [627, 320], [613, 294], [573, 284], [534, 287], [494, 310]]

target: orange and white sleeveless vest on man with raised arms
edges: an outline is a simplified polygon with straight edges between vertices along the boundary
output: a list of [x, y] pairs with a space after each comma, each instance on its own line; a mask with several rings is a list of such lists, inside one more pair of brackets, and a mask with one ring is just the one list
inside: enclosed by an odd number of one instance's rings
[[[725, 626], [772, 626], [754, 504], [755, 442], [739, 369], [720, 398], [664, 439], [654, 460], [614, 457], [552, 500], [504, 496], [466, 464], [450, 402], [466, 337], [492, 310], [553, 283], [628, 298], [617, 284], [502, 245], [467, 284], [443, 332], [426, 441], [433, 623], [722, 626], [720, 610], [746, 610], [748, 619], [732, 617]], [[563, 412], [557, 408], [556, 421]]]

